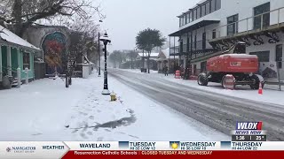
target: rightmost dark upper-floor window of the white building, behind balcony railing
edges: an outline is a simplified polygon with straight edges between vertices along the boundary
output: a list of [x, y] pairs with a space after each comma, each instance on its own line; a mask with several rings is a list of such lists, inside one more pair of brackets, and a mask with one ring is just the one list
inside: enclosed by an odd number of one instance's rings
[[[254, 8], [254, 29], [268, 27], [270, 25], [270, 3], [262, 4]], [[265, 13], [264, 12], [268, 12]]]

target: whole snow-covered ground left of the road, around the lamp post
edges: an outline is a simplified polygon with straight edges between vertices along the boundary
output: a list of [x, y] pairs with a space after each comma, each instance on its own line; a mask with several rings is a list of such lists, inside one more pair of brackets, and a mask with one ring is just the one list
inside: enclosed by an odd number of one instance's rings
[[230, 140], [109, 78], [41, 79], [0, 90], [0, 140]]

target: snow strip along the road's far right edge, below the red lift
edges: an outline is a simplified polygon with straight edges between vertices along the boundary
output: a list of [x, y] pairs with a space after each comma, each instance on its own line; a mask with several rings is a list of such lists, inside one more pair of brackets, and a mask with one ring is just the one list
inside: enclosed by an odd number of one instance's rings
[[[137, 72], [139, 73], [139, 72]], [[258, 90], [251, 90], [250, 87], [246, 86], [237, 86], [236, 90], [228, 90], [221, 87], [221, 84], [218, 83], [209, 83], [208, 87], [202, 87], [197, 84], [195, 80], [184, 80], [184, 79], [175, 79], [174, 75], [170, 74], [168, 77], [165, 77], [163, 74], [153, 73], [149, 76], [154, 76], [157, 78], [167, 79], [172, 82], [177, 82], [179, 84], [194, 87], [209, 92], [214, 92], [221, 95], [230, 95], [243, 99], [254, 100], [258, 102], [269, 102], [283, 105], [284, 107], [284, 91], [278, 91], [278, 86], [265, 85], [264, 86], [264, 95], [258, 95]], [[284, 90], [284, 87], [281, 88]]]

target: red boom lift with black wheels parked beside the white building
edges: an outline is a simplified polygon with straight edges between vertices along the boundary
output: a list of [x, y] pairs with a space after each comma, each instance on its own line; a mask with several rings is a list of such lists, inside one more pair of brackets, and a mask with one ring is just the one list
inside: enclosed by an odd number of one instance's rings
[[221, 83], [225, 87], [226, 77], [233, 75], [233, 87], [236, 85], [249, 85], [258, 89], [259, 83], [264, 87], [264, 79], [256, 74], [259, 69], [258, 57], [245, 52], [245, 43], [239, 42], [232, 49], [222, 52], [207, 61], [207, 72], [198, 76], [198, 84], [207, 86], [209, 82]]

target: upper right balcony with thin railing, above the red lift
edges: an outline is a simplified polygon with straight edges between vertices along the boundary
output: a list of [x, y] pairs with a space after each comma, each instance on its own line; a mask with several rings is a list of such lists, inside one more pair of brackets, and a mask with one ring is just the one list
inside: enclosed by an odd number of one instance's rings
[[215, 34], [215, 38], [209, 40], [209, 43], [217, 49], [228, 49], [236, 42], [246, 42], [248, 46], [261, 45], [264, 44], [261, 36], [268, 37], [269, 43], [280, 42], [277, 33], [284, 32], [284, 7], [217, 27], [209, 32]]

